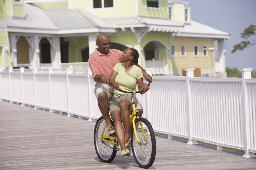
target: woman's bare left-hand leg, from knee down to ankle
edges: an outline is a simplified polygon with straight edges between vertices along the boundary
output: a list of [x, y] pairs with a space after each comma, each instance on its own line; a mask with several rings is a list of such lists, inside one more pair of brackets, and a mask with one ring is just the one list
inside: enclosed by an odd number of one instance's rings
[[116, 131], [117, 139], [118, 139], [119, 144], [121, 146], [121, 150], [126, 150], [125, 140], [124, 140], [124, 128], [122, 126], [120, 112], [118, 110], [113, 110], [111, 112], [111, 114], [112, 114], [112, 117], [114, 119], [115, 131]]

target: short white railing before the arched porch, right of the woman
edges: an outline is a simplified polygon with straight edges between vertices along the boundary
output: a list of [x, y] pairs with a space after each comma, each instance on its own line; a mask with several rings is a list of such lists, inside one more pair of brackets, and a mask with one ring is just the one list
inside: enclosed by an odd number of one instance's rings
[[146, 60], [147, 68], [152, 68], [152, 75], [164, 75], [165, 74], [165, 59], [163, 60]]

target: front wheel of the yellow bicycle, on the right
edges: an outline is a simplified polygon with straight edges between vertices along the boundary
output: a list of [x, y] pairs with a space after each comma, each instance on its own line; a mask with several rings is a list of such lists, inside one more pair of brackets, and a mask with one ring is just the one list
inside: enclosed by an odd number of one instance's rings
[[[144, 129], [141, 128], [141, 125]], [[135, 119], [135, 127], [140, 144], [137, 143], [134, 130], [131, 130], [133, 157], [141, 168], [149, 168], [156, 157], [156, 137], [150, 122], [145, 118]], [[145, 134], [145, 136], [144, 136]]]

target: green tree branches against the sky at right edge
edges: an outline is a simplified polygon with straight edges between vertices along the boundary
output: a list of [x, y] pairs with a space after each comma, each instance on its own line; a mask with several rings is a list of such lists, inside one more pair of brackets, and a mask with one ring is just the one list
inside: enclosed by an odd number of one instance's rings
[[[244, 32], [241, 33], [241, 37], [245, 40], [248, 40], [249, 37], [252, 35], [255, 35], [256, 31], [256, 25], [250, 25], [248, 28], [244, 29]], [[244, 50], [244, 48], [251, 47], [253, 45], [256, 45], [255, 40], [251, 41], [241, 41], [239, 44], [236, 44], [233, 46], [233, 50], [231, 53], [236, 52], [236, 50]]]

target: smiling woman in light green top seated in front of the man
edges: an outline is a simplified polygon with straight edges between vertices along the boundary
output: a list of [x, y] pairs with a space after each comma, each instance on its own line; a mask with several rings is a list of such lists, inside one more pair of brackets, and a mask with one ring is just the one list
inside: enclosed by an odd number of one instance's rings
[[[109, 110], [115, 123], [117, 138], [121, 147], [121, 156], [130, 155], [129, 149], [126, 147], [130, 143], [130, 112], [131, 94], [118, 91], [135, 91], [138, 83], [139, 89], [143, 89], [143, 74], [139, 67], [134, 64], [138, 63], [139, 53], [134, 48], [127, 48], [122, 54], [121, 60], [124, 63], [118, 63], [113, 68], [109, 77], [109, 82], [114, 84], [114, 94], [109, 101]], [[134, 102], [137, 106], [138, 100], [134, 95]], [[124, 125], [124, 129], [122, 126]]]

